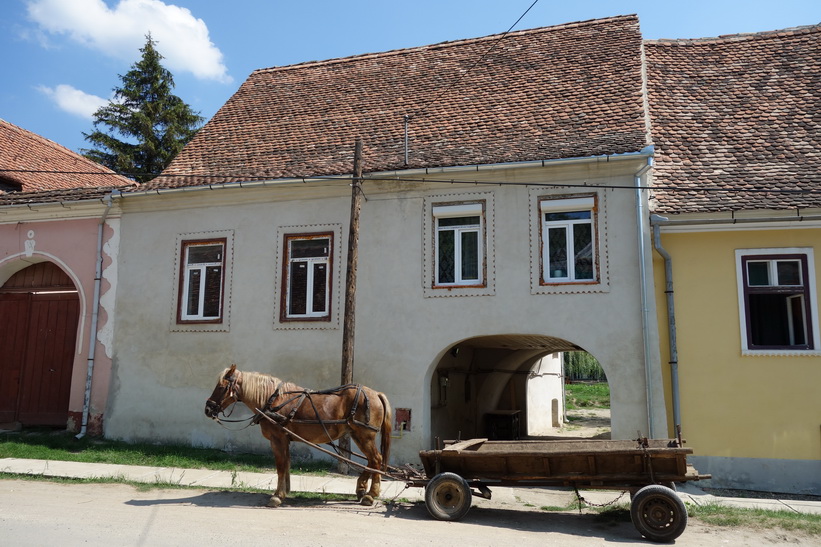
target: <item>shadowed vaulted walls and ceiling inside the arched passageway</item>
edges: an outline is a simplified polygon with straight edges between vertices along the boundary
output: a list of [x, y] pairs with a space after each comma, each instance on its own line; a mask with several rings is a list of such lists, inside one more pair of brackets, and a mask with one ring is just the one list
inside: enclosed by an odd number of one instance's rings
[[[563, 402], [560, 354], [579, 351], [584, 349], [568, 340], [520, 334], [476, 337], [451, 346], [431, 377], [434, 444], [437, 439], [526, 437], [532, 430], [529, 413], [549, 412]], [[558, 359], [558, 375], [545, 368], [551, 359]], [[543, 392], [546, 404], [534, 405], [528, 384], [547, 377], [554, 391], [549, 396]], [[552, 416], [546, 420], [554, 425]]]

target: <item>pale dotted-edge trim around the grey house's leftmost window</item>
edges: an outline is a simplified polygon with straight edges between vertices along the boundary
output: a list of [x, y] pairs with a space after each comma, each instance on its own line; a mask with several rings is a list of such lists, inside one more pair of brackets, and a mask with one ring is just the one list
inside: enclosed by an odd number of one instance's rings
[[[183, 252], [189, 243], [219, 241], [224, 244], [222, 271], [222, 312], [220, 319], [183, 320], [181, 316], [181, 297], [184, 285]], [[171, 297], [171, 331], [172, 332], [229, 332], [231, 330], [231, 287], [234, 266], [234, 231], [219, 230], [209, 232], [192, 232], [177, 234], [174, 252], [174, 279]]]

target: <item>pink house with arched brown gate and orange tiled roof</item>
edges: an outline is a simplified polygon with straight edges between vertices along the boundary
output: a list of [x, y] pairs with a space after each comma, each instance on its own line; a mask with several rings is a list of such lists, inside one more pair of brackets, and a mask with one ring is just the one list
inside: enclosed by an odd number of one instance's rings
[[130, 184], [0, 120], [0, 424], [102, 431], [118, 237], [107, 196]]

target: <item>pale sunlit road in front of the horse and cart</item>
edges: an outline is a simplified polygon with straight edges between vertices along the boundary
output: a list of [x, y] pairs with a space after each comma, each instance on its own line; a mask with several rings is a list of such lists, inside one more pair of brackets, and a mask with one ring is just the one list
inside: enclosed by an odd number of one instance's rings
[[[14, 546], [209, 545], [652, 545], [630, 522], [595, 514], [545, 513], [487, 500], [459, 522], [433, 520], [421, 503], [288, 500], [265, 507], [264, 494], [137, 489], [123, 484], [0, 480], [0, 543]], [[707, 527], [691, 519], [677, 546], [779, 543], [817, 538], [776, 531]]]

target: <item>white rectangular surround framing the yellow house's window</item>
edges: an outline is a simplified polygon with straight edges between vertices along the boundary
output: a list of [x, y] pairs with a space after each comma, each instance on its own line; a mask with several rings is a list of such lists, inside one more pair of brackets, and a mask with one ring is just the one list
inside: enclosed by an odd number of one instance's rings
[[[804, 302], [808, 306], [808, 316], [810, 325], [807, 329], [809, 348], [789, 347], [765, 347], [765, 348], [750, 348], [750, 338], [748, 336], [747, 324], [747, 293], [745, 287], [745, 272], [744, 265], [750, 261], [751, 258], [773, 257], [773, 259], [784, 257], [786, 260], [796, 259], [806, 267], [804, 273], [805, 291], [808, 295], [807, 301]], [[803, 260], [802, 260], [803, 258]], [[765, 248], [765, 249], [736, 249], [736, 286], [738, 290], [738, 313], [739, 313], [739, 327], [741, 331], [741, 354], [745, 356], [780, 356], [780, 357], [800, 357], [800, 356], [816, 356], [821, 355], [821, 337], [819, 336], [818, 325], [818, 292], [816, 291], [815, 282], [815, 257], [811, 247], [784, 247], [784, 248]]]

